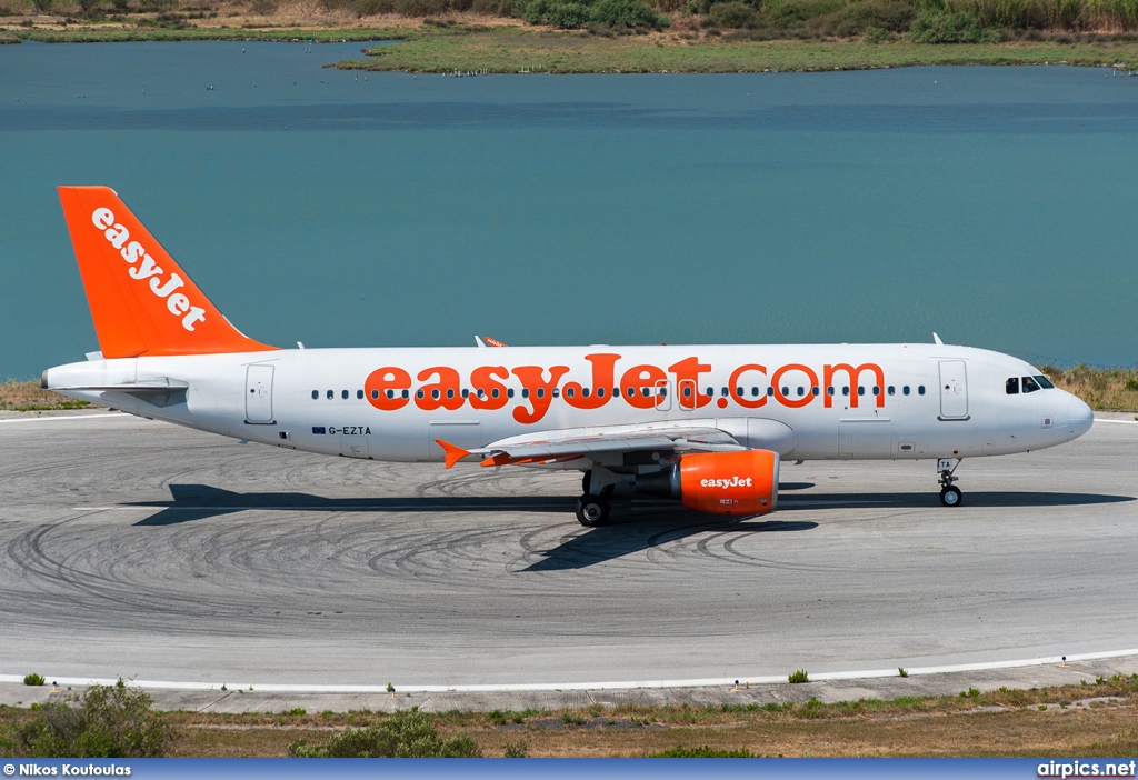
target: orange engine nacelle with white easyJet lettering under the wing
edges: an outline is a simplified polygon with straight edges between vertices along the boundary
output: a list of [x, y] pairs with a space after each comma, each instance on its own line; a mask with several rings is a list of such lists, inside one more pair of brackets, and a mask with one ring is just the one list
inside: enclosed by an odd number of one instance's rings
[[682, 455], [670, 468], [638, 478], [636, 490], [698, 512], [765, 515], [778, 506], [778, 453], [766, 449]]

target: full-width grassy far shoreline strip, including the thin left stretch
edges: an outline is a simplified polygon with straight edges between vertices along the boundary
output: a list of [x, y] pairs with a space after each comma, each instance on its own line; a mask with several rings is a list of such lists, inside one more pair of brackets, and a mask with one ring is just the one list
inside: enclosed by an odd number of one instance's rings
[[[1055, 33], [990, 43], [916, 43], [894, 36], [756, 40], [753, 32], [687, 27], [607, 35], [518, 24], [517, 19], [394, 18], [384, 26], [296, 27], [43, 24], [0, 17], [0, 43], [135, 41], [399, 41], [362, 50], [361, 59], [325, 64], [353, 70], [406, 73], [767, 73], [868, 70], [947, 65], [1071, 65], [1138, 75], [1138, 35]], [[307, 22], [312, 22], [308, 19]], [[338, 19], [338, 22], [344, 22]], [[1037, 40], [1041, 39], [1041, 40]], [[319, 48], [315, 50], [319, 53]], [[1136, 82], [1138, 83], [1138, 82]]]

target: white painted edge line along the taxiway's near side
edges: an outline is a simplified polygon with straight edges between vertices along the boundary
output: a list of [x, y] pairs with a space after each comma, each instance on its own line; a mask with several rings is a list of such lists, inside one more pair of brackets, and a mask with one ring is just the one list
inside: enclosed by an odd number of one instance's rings
[[[1066, 663], [1078, 663], [1080, 661], [1104, 661], [1107, 658], [1124, 658], [1138, 656], [1138, 648], [1129, 650], [1111, 650], [1106, 653], [1083, 653], [1080, 655], [1065, 656]], [[983, 672], [999, 669], [1021, 669], [1024, 666], [1054, 666], [1059, 664], [1059, 656], [1048, 656], [1046, 658], [1022, 658], [1020, 661], [993, 661], [975, 664], [954, 664], [948, 666], [922, 666], [909, 669], [909, 677], [920, 674], [945, 674], [948, 672]], [[81, 677], [56, 677], [46, 675], [49, 680], [61, 686], [113, 686], [118, 680], [109, 678], [81, 678]], [[897, 677], [897, 669], [872, 669], [851, 672], [822, 672], [811, 674], [811, 682], [825, 680], [871, 680], [876, 678]], [[720, 686], [733, 686], [735, 681], [750, 682], [754, 684], [784, 683], [785, 674], [747, 677], [736, 674], [731, 678], [704, 678], [698, 680], [628, 680], [619, 682], [517, 682], [500, 684], [453, 684], [453, 686], [396, 686], [396, 690], [402, 694], [444, 694], [444, 692], [468, 692], [488, 694], [495, 691], [539, 691], [539, 690], [628, 690], [636, 688], [711, 688]], [[22, 674], [0, 674], [0, 682], [23, 682]], [[132, 684], [139, 688], [154, 688], [167, 690], [221, 690], [221, 682], [176, 682], [168, 680], [133, 680]], [[387, 686], [340, 686], [340, 684], [281, 684], [264, 682], [226, 682], [228, 690], [248, 689], [265, 694], [386, 694]]]

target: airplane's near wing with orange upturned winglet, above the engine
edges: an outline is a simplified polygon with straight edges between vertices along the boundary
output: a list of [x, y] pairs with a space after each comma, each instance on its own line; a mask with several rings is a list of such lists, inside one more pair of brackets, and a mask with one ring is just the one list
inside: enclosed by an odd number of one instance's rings
[[564, 463], [602, 453], [633, 453], [649, 449], [667, 453], [725, 453], [748, 449], [733, 435], [717, 428], [667, 428], [555, 439], [538, 433], [529, 438], [514, 437], [469, 450], [442, 439], [436, 439], [436, 443], [446, 454], [447, 468], [471, 455], [483, 456], [483, 466], [505, 466]]

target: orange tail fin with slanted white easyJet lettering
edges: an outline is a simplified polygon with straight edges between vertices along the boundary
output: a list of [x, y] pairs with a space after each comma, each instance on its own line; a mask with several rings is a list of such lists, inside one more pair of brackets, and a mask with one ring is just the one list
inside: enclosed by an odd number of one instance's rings
[[59, 200], [104, 357], [277, 349], [233, 327], [114, 190], [60, 186]]

